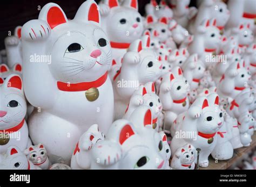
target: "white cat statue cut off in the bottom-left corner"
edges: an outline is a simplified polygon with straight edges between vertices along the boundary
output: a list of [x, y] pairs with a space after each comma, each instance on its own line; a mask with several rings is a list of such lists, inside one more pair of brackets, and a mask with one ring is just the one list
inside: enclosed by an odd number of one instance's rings
[[16, 146], [10, 146], [5, 153], [0, 154], [0, 169], [41, 169], [35, 166]]

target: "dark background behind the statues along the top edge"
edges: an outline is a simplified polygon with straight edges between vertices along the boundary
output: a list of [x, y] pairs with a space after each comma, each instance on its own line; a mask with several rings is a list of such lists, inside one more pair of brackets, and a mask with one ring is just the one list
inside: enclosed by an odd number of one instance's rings
[[[41, 6], [42, 9], [49, 2], [57, 3], [63, 9], [66, 16], [73, 19], [79, 6], [85, 0], [1, 0], [0, 49], [4, 48], [4, 38], [8, 36], [9, 31], [14, 32], [16, 26], [22, 26], [31, 19], [37, 19], [39, 15], [38, 6]], [[96, 2], [98, 3], [99, 0], [96, 0]], [[144, 15], [145, 5], [149, 2], [150, 0], [138, 0], [141, 15]], [[195, 2], [195, 0], [192, 0], [191, 5], [194, 5]]]

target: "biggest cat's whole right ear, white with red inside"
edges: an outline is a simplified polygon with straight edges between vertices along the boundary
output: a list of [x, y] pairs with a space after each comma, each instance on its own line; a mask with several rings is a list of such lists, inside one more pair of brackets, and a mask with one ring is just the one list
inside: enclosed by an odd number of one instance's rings
[[86, 1], [78, 9], [74, 20], [90, 21], [90, 23], [100, 25], [100, 13], [95, 1]]

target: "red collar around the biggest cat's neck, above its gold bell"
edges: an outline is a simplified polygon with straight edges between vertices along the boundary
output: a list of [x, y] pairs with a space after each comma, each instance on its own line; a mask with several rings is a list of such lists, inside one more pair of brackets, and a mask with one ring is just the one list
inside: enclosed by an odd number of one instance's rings
[[94, 88], [100, 87], [102, 84], [106, 82], [106, 79], [107, 79], [107, 71], [103, 76], [99, 77], [96, 81], [80, 82], [80, 83], [72, 83], [72, 84], [58, 81], [57, 87], [61, 91], [86, 91], [93, 87]]

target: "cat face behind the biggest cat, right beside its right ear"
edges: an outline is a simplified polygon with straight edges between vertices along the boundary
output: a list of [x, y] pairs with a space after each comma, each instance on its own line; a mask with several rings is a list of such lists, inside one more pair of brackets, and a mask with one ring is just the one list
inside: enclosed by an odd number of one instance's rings
[[111, 41], [131, 43], [143, 33], [143, 20], [138, 12], [137, 0], [124, 1], [119, 5], [117, 0], [107, 0], [110, 12], [103, 16], [104, 29]]

